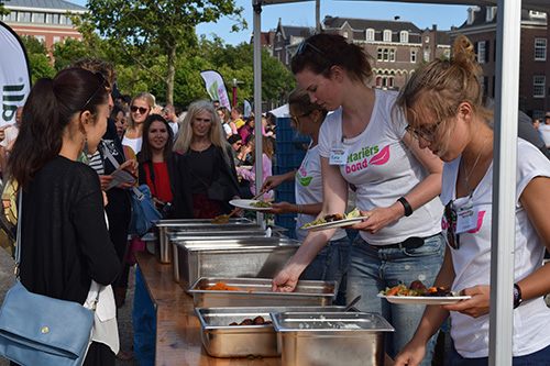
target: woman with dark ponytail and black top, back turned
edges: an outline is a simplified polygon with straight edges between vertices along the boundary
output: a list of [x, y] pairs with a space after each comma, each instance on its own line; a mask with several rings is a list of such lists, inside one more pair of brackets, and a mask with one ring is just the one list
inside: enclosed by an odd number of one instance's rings
[[[26, 101], [9, 167], [22, 188], [20, 276], [32, 292], [84, 303], [92, 280], [119, 274], [98, 175], [77, 162], [106, 131], [108, 87], [99, 73], [68, 68], [38, 79]], [[114, 365], [114, 353], [94, 342], [85, 365]]]

